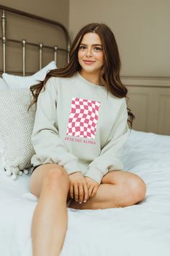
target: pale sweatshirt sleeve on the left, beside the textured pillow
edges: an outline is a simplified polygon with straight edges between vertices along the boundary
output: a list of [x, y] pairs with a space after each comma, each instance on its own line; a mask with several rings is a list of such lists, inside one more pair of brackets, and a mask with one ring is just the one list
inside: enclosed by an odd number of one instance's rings
[[32, 145], [35, 155], [33, 166], [45, 163], [58, 163], [68, 174], [79, 169], [78, 158], [68, 152], [55, 127], [57, 108], [57, 85], [55, 78], [50, 78], [37, 99], [35, 124], [32, 132]]

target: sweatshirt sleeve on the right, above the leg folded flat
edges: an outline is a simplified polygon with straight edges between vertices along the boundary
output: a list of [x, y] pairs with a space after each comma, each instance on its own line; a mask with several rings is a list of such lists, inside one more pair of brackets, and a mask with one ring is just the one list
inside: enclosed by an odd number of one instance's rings
[[102, 148], [100, 155], [89, 164], [88, 171], [84, 176], [88, 176], [100, 184], [102, 177], [108, 171], [123, 168], [121, 151], [130, 133], [127, 120], [126, 101], [123, 101], [104, 148]]

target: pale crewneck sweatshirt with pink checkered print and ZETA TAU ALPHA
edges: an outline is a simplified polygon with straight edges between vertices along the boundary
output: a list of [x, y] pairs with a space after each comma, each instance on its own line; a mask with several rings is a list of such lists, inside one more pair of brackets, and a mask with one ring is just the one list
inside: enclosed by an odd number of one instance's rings
[[108, 171], [123, 168], [127, 119], [125, 98], [107, 93], [79, 72], [50, 77], [37, 98], [32, 164], [58, 163], [68, 174], [81, 171], [100, 184]]

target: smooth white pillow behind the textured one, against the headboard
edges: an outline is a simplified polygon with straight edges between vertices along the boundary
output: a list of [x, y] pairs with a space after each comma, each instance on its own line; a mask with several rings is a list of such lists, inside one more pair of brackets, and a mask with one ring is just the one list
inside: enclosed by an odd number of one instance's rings
[[40, 69], [37, 73], [27, 77], [20, 77], [14, 74], [2, 74], [8, 88], [30, 88], [35, 85], [39, 80], [44, 80], [47, 72], [50, 69], [56, 69], [55, 61], [51, 61], [47, 66]]

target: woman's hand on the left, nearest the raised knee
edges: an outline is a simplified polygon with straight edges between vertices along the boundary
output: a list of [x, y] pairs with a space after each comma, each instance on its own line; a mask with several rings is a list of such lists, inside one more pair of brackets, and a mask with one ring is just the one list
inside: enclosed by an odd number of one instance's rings
[[88, 199], [88, 189], [86, 181], [81, 171], [69, 175], [70, 179], [70, 196], [79, 202], [86, 202]]

